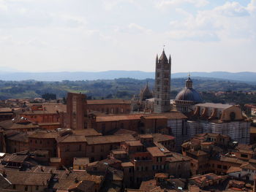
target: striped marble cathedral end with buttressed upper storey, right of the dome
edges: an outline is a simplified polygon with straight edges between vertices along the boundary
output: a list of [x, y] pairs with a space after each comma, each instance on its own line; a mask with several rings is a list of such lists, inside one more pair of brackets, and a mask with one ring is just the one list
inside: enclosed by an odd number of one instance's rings
[[250, 122], [242, 114], [241, 107], [230, 104], [195, 104], [187, 121], [187, 135], [215, 133], [225, 134], [236, 142], [249, 144]]

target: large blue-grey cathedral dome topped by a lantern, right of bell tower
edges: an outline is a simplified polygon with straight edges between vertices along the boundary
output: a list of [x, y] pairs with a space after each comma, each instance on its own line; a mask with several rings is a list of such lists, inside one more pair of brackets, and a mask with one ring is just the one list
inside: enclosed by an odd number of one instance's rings
[[196, 103], [203, 102], [200, 94], [192, 88], [192, 80], [190, 77], [186, 80], [186, 87], [181, 90], [176, 96], [176, 100], [179, 101], [193, 101]]

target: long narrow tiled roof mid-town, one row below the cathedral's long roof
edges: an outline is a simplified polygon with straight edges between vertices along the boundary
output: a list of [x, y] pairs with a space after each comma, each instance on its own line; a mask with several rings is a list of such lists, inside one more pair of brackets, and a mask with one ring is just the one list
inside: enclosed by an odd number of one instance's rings
[[88, 145], [116, 143], [130, 140], [135, 140], [135, 138], [131, 134], [86, 137], [86, 142]]

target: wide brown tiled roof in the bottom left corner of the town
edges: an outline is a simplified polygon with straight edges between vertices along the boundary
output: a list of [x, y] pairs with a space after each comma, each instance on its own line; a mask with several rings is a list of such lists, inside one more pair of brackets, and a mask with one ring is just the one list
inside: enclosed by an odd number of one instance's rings
[[48, 186], [52, 174], [39, 172], [10, 172], [7, 171], [7, 180], [12, 185], [39, 185]]

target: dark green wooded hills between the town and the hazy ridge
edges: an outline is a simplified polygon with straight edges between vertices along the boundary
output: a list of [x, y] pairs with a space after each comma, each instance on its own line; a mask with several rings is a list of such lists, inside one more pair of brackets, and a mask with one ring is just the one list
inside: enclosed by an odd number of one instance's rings
[[[187, 77], [186, 77], [187, 78]], [[171, 82], [171, 99], [174, 99], [185, 86], [186, 78], [174, 78]], [[146, 86], [151, 90], [154, 88], [154, 79], [135, 80], [132, 78], [118, 78], [115, 80], [81, 80], [61, 82], [50, 81], [1, 81], [0, 80], [0, 100], [1, 99], [19, 99], [36, 98], [45, 93], [56, 94], [57, 98], [67, 96], [67, 92], [86, 93], [96, 99], [131, 99], [133, 95], [140, 93], [140, 90]], [[193, 78], [193, 87], [201, 93], [207, 91], [256, 91], [256, 85], [250, 85], [246, 82], [231, 82], [227, 80], [208, 80]], [[244, 94], [240, 101], [255, 103], [256, 101], [246, 100]], [[205, 101], [219, 101], [204, 94]], [[212, 96], [211, 96], [212, 97]], [[256, 97], [252, 95], [256, 100]], [[233, 98], [230, 98], [231, 101]], [[219, 101], [225, 102], [225, 101]]]

